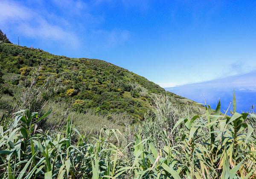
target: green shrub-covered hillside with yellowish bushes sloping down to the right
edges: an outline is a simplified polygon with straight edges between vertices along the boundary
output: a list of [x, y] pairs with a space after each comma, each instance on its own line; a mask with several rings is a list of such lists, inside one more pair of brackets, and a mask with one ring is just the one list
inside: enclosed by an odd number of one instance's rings
[[[64, 101], [76, 112], [129, 113], [143, 118], [150, 107], [150, 95], [165, 90], [146, 78], [108, 62], [88, 58], [67, 58], [41, 49], [0, 43], [0, 85], [15, 96], [28, 85], [31, 71], [41, 66], [37, 85], [51, 76], [58, 85], [55, 101]], [[190, 100], [168, 92], [175, 104]], [[195, 107], [198, 108], [198, 107]]]

